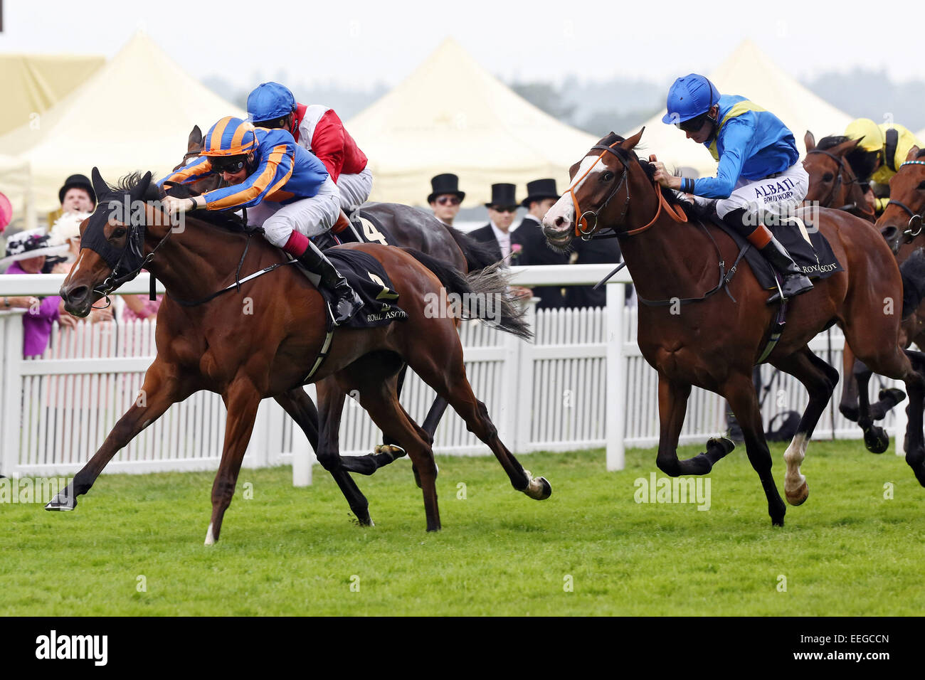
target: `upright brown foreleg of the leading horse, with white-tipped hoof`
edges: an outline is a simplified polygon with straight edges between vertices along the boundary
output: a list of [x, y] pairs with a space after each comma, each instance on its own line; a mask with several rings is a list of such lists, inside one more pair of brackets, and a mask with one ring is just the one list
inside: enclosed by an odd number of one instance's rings
[[260, 392], [250, 379], [243, 377], [235, 380], [228, 391], [222, 395], [228, 410], [225, 424], [225, 444], [222, 447], [222, 459], [218, 464], [216, 481], [212, 485], [212, 521], [205, 534], [205, 545], [212, 545], [218, 540], [222, 530], [222, 519], [234, 489], [238, 484], [240, 464], [251, 440], [253, 421], [260, 405]]

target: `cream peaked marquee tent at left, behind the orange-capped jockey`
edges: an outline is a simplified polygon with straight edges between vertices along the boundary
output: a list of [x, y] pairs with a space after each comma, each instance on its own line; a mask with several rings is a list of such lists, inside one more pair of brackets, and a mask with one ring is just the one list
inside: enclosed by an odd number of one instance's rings
[[[176, 166], [193, 125], [203, 130], [224, 116], [246, 116], [191, 78], [142, 31], [68, 97], [29, 125], [0, 137], [0, 154], [31, 167], [32, 209], [58, 207], [58, 188], [93, 166], [114, 181], [134, 170], [155, 177]], [[13, 170], [0, 167], [0, 192], [14, 191]], [[22, 209], [14, 204], [14, 210]]]

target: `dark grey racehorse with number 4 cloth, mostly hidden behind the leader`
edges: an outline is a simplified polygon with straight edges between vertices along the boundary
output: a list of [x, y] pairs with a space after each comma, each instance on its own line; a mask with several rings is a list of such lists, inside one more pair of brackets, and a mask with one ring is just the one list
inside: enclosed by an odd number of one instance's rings
[[[202, 148], [203, 132], [198, 125], [193, 126], [187, 138], [186, 154], [174, 170], [178, 170], [191, 158], [200, 155]], [[213, 191], [223, 183], [220, 175], [209, 174], [189, 184], [170, 187], [167, 192], [178, 197], [189, 197]], [[375, 225], [368, 220], [364, 221], [364, 236], [368, 241], [414, 248], [463, 273], [482, 270], [495, 262], [494, 254], [487, 246], [458, 229], [448, 227], [433, 215], [418, 208], [402, 204], [371, 203], [364, 204], [362, 212], [375, 219]], [[317, 245], [325, 248], [334, 243], [335, 241], [330, 239], [327, 244], [319, 241]], [[402, 366], [398, 377], [400, 396], [406, 373], [407, 366]], [[311, 408], [305, 416], [316, 424], [306, 434], [318, 462], [326, 470], [333, 474], [333, 471], [342, 467], [349, 472], [372, 475], [379, 467], [390, 464], [404, 455], [401, 442], [387, 436], [384, 438], [384, 444], [376, 446], [373, 453], [362, 456], [340, 456], [339, 426], [347, 395], [339, 391], [337, 382], [333, 379], [320, 389], [326, 390], [328, 401], [325, 404], [326, 407], [322, 408], [321, 413], [318, 414], [314, 409], [314, 404], [309, 400]], [[437, 431], [440, 418], [446, 411], [447, 405], [447, 402], [438, 395], [428, 410], [422, 427], [431, 437]], [[417, 467], [413, 465], [412, 470], [415, 480], [420, 485]], [[342, 485], [341, 488], [343, 488]], [[359, 488], [352, 485], [349, 491], [345, 490], [344, 496], [360, 524], [372, 524], [372, 519], [369, 517], [369, 504]]]

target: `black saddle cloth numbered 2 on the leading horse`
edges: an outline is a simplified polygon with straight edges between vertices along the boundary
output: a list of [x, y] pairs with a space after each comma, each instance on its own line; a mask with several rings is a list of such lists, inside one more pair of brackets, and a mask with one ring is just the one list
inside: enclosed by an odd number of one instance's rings
[[[325, 255], [363, 300], [363, 308], [345, 324], [347, 328], [388, 326], [392, 321], [408, 318], [408, 314], [396, 305], [399, 294], [375, 257], [349, 248], [331, 248]], [[333, 307], [333, 296], [324, 290], [320, 292]]]

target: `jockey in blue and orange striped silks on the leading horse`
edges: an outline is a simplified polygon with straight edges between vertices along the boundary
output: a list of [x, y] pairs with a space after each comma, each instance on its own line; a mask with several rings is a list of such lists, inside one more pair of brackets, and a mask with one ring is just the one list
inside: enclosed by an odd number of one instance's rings
[[194, 198], [168, 196], [167, 209], [248, 208], [248, 221], [263, 226], [267, 241], [293, 255], [334, 293], [336, 302], [329, 311], [335, 326], [356, 314], [360, 299], [309, 240], [330, 229], [340, 213], [338, 189], [321, 161], [296, 144], [288, 131], [254, 128], [235, 117], [224, 117], [212, 126], [200, 154], [158, 185], [189, 183], [219, 173], [230, 186]]

